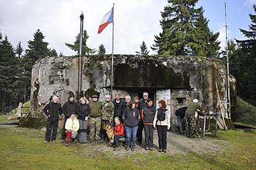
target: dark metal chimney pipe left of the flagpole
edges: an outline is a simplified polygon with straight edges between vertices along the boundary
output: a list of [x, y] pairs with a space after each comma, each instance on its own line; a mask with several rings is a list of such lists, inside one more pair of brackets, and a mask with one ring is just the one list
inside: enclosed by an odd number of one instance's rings
[[82, 43], [83, 43], [83, 12], [80, 15], [80, 41], [79, 41], [79, 67], [78, 67], [78, 84], [77, 84], [77, 100], [81, 98], [81, 75], [82, 75]]

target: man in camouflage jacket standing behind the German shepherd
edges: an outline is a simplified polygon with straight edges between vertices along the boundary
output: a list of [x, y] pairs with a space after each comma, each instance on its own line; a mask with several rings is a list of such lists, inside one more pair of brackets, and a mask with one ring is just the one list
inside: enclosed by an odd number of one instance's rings
[[[101, 118], [101, 127], [104, 123], [108, 123], [109, 125], [113, 124], [115, 112], [115, 105], [111, 102], [110, 95], [106, 95], [106, 100], [102, 102], [102, 118]], [[105, 130], [101, 131], [102, 139], [108, 141], [108, 135]]]

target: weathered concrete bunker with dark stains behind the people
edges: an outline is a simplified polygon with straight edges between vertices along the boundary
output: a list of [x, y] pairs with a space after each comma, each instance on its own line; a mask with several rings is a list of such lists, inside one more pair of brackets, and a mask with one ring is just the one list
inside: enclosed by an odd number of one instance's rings
[[[64, 104], [68, 91], [76, 94], [78, 58], [44, 58], [35, 63], [31, 79], [31, 117], [44, 120], [43, 108], [52, 94]], [[175, 111], [197, 98], [205, 109], [218, 111], [216, 87], [218, 84], [221, 105], [227, 111], [226, 69], [217, 59], [172, 56], [115, 55], [113, 95], [119, 92], [140, 97], [144, 91], [154, 99], [166, 100], [175, 127]], [[90, 98], [93, 93], [104, 100], [111, 87], [111, 56], [83, 57], [82, 91]]]

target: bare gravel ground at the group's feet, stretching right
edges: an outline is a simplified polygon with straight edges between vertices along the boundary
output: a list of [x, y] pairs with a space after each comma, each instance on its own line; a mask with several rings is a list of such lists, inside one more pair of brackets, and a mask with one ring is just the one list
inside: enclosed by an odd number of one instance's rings
[[[189, 151], [195, 152], [198, 154], [220, 154], [223, 153], [227, 148], [227, 141], [221, 141], [218, 139], [204, 139], [201, 137], [198, 138], [188, 138], [185, 135], [175, 134], [173, 132], [168, 132], [167, 137], [167, 153], [173, 155], [175, 153], [188, 153]], [[144, 139], [144, 138], [143, 138]], [[157, 138], [157, 131], [154, 130], [154, 152], [159, 153], [158, 150], [158, 138]], [[119, 151], [113, 151], [113, 148], [108, 147], [103, 144], [74, 144], [73, 146], [79, 146], [79, 150], [81, 154], [86, 153], [86, 155], [95, 156], [95, 153], [104, 154], [111, 152], [111, 156], [113, 157], [129, 157], [136, 153], [148, 153], [143, 148], [143, 146], [136, 146], [136, 151], [126, 151], [124, 148]], [[72, 146], [71, 146], [72, 147]], [[79, 154], [79, 152], [78, 152]], [[164, 153], [159, 153], [164, 154]]]

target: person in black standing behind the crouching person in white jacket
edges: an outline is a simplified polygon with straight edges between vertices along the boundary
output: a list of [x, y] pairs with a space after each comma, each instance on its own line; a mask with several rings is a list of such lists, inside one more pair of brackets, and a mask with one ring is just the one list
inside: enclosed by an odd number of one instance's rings
[[78, 114], [79, 111], [79, 104], [75, 102], [75, 96], [72, 91], [69, 93], [68, 102], [66, 102], [62, 107], [62, 112], [65, 115], [64, 124], [63, 124], [63, 131], [61, 134], [61, 143], [65, 141], [66, 133], [65, 133], [65, 124], [68, 118], [70, 118], [71, 114]]

